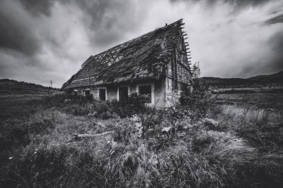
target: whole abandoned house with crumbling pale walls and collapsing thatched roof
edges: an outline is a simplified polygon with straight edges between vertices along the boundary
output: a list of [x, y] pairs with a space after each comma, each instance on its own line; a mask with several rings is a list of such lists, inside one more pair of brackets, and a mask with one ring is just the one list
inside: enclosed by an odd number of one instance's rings
[[184, 24], [180, 19], [90, 56], [62, 89], [103, 101], [142, 94], [150, 105], [170, 106], [191, 76]]

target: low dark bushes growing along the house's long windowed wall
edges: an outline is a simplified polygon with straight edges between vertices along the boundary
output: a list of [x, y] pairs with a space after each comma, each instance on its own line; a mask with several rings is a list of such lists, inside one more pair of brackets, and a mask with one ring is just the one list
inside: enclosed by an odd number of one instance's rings
[[109, 119], [119, 115], [121, 118], [132, 117], [146, 111], [146, 99], [132, 94], [124, 101], [97, 101], [91, 97], [66, 95], [47, 96], [43, 100], [46, 108], [57, 106], [74, 115], [91, 115], [94, 118]]

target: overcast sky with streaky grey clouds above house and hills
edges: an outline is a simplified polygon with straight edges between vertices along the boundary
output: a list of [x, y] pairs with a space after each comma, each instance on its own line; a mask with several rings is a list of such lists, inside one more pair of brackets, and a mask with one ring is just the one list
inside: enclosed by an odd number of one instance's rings
[[0, 0], [0, 78], [62, 87], [91, 56], [184, 18], [202, 76], [283, 69], [283, 1]]

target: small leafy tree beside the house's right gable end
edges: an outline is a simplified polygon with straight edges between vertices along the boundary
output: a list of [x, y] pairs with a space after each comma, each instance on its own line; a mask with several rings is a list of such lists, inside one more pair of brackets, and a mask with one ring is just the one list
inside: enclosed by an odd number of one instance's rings
[[192, 66], [192, 77], [181, 87], [180, 104], [186, 106], [198, 117], [207, 114], [211, 103], [211, 90], [204, 80], [200, 79], [200, 66]]

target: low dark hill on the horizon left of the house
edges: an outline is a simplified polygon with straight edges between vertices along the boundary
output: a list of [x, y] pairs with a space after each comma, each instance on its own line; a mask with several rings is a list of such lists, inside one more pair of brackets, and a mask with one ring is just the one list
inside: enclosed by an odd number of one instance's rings
[[4, 94], [52, 94], [59, 89], [44, 87], [40, 84], [18, 82], [16, 80], [0, 79], [0, 95]]

